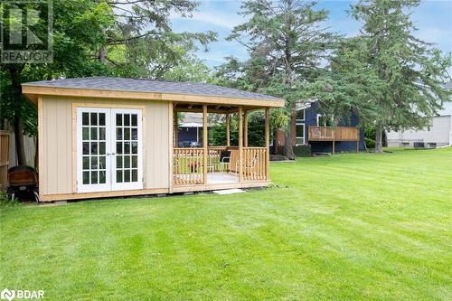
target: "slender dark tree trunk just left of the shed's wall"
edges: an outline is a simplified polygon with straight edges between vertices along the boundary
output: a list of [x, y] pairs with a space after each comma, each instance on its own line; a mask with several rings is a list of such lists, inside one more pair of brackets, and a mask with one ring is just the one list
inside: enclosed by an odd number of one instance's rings
[[24, 127], [22, 123], [22, 89], [20, 84], [20, 71], [14, 65], [9, 65], [8, 70], [11, 76], [11, 86], [13, 89], [12, 98], [14, 101], [14, 142], [17, 153], [17, 164], [26, 165], [24, 147]]

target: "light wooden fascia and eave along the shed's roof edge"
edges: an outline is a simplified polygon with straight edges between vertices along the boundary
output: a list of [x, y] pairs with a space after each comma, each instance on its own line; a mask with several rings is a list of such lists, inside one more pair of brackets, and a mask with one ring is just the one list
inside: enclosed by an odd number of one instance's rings
[[284, 107], [283, 99], [244, 99], [222, 96], [206, 96], [168, 92], [143, 92], [117, 89], [77, 89], [61, 87], [43, 87], [37, 85], [22, 85], [22, 93], [27, 99], [37, 105], [40, 96], [67, 96], [80, 98], [101, 99], [140, 99], [140, 100], [165, 100], [186, 103], [202, 103], [233, 106], [253, 106], [257, 108], [281, 108]]

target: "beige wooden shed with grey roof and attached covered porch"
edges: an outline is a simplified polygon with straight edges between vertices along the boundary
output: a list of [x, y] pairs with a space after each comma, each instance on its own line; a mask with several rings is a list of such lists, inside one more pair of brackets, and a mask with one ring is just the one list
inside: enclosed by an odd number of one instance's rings
[[[206, 83], [110, 77], [28, 82], [38, 107], [42, 202], [268, 185], [269, 108], [282, 99]], [[264, 109], [265, 146], [248, 146], [247, 112]], [[202, 113], [202, 147], [178, 147], [177, 112]], [[207, 117], [224, 114], [226, 146]], [[230, 118], [239, 145], [230, 144]]]

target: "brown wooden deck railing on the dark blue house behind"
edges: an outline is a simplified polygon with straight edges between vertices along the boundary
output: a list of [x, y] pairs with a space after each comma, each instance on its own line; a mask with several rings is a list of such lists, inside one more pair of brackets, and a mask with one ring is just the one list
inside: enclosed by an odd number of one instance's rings
[[359, 141], [358, 127], [308, 127], [310, 141]]

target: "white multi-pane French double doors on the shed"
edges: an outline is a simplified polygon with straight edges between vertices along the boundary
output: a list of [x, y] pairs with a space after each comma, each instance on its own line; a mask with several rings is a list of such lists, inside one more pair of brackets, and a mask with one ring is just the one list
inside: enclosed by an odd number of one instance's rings
[[143, 188], [140, 109], [77, 109], [77, 192]]

